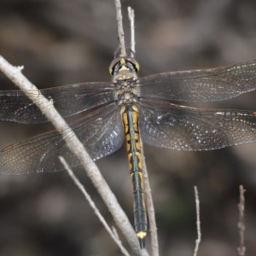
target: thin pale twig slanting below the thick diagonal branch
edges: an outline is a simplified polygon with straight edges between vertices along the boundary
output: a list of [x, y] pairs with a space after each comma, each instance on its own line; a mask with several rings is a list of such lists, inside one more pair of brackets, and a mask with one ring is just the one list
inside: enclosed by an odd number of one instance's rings
[[119, 240], [119, 237], [117, 236], [116, 232], [113, 232], [110, 227], [108, 226], [108, 223], [106, 222], [105, 218], [102, 216], [102, 213], [98, 210], [95, 203], [91, 200], [90, 195], [87, 193], [87, 191], [84, 189], [84, 186], [82, 183], [79, 182], [78, 177], [75, 176], [70, 166], [68, 166], [67, 161], [60, 156], [59, 159], [61, 160], [61, 164], [64, 166], [64, 168], [67, 170], [68, 175], [73, 179], [73, 182], [77, 185], [79, 190], [84, 195], [86, 201], [88, 201], [90, 207], [93, 209], [96, 216], [99, 218], [100, 222], [103, 224], [105, 229], [108, 231], [109, 236], [112, 237], [113, 241], [117, 244], [117, 246], [120, 248], [121, 252], [126, 255], [130, 256], [131, 254], [127, 252], [125, 247], [123, 247], [122, 242]]

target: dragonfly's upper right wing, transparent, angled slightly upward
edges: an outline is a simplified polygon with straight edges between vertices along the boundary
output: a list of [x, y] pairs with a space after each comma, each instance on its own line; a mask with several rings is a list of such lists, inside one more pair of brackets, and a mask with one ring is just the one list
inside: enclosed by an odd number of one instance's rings
[[256, 61], [157, 73], [137, 80], [140, 95], [184, 102], [223, 101], [256, 89]]

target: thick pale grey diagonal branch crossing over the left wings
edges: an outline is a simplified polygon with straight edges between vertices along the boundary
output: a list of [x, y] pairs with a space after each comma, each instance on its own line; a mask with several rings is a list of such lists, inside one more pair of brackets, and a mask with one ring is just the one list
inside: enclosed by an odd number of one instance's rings
[[[115, 223], [119, 226], [119, 229], [124, 234], [125, 238], [129, 242], [133, 252], [136, 255], [141, 255], [141, 249], [139, 247], [137, 236], [125, 215], [123, 209], [119, 206], [119, 203], [113, 195], [113, 192], [108, 187], [105, 179], [102, 177], [101, 172], [98, 170], [96, 164], [90, 159], [89, 154], [85, 151], [84, 145], [79, 142], [79, 139], [68, 127], [66, 121], [61, 118], [61, 115], [55, 110], [53, 102], [47, 100], [26, 77], [20, 72], [20, 67], [14, 67], [9, 64], [8, 61], [3, 59], [0, 55], [0, 69], [2, 72], [16, 84], [20, 90], [22, 90], [26, 96], [28, 96], [32, 102], [34, 102], [38, 108], [44, 113], [49, 121], [55, 126], [55, 129], [59, 131], [67, 147], [76, 155], [80, 160], [84, 170], [88, 177], [90, 177], [92, 183], [94, 183], [96, 189], [102, 197], [108, 207], [109, 212], [113, 215]], [[68, 135], [68, 136], [67, 136]]]

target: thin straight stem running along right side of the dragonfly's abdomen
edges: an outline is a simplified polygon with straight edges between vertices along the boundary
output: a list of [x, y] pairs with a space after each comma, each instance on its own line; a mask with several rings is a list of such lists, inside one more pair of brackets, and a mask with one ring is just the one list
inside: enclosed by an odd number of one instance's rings
[[157, 236], [157, 226], [155, 221], [154, 214], [154, 203], [151, 194], [151, 188], [148, 180], [148, 170], [146, 166], [146, 161], [144, 157], [144, 149], [143, 149], [143, 141], [141, 140], [141, 152], [143, 158], [143, 176], [144, 176], [144, 189], [146, 194], [146, 204], [147, 204], [147, 212], [148, 212], [148, 222], [150, 227], [150, 238], [151, 238], [151, 253], [153, 256], [159, 255], [159, 244], [158, 244], [158, 236]]

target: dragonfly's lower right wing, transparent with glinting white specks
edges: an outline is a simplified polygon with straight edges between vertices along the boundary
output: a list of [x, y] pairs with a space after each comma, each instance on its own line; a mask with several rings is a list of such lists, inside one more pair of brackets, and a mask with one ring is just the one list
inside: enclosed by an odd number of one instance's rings
[[142, 100], [143, 142], [177, 150], [212, 150], [256, 141], [256, 112], [198, 109]]

